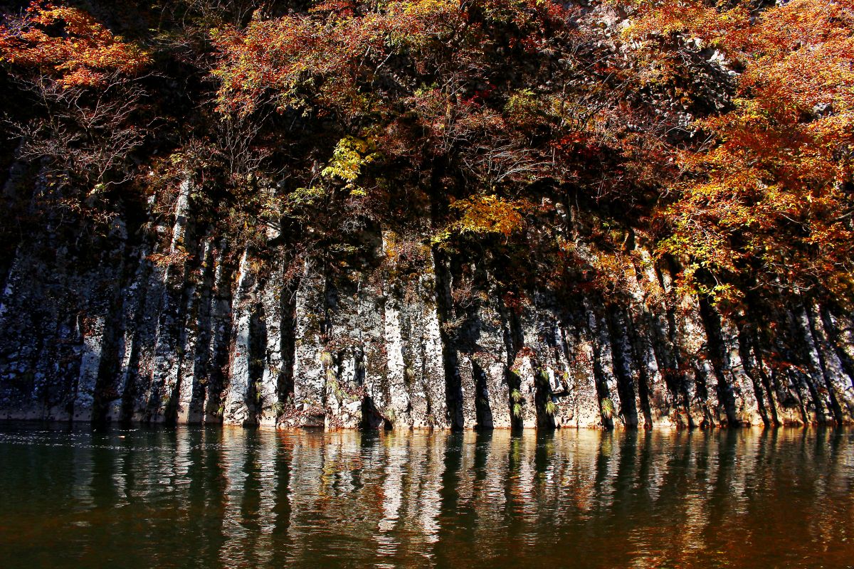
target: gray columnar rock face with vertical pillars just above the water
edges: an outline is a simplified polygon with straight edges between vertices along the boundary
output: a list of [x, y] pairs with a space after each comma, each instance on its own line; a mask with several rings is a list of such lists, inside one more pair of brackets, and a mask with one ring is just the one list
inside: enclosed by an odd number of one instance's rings
[[854, 327], [834, 306], [721, 314], [681, 295], [642, 245], [625, 257], [618, 301], [518, 291], [488, 258], [426, 245], [401, 270], [383, 228], [342, 268], [214, 236], [196, 226], [191, 190], [135, 240], [117, 222], [97, 253], [50, 233], [20, 244], [0, 276], [0, 419], [410, 429], [854, 417]]

